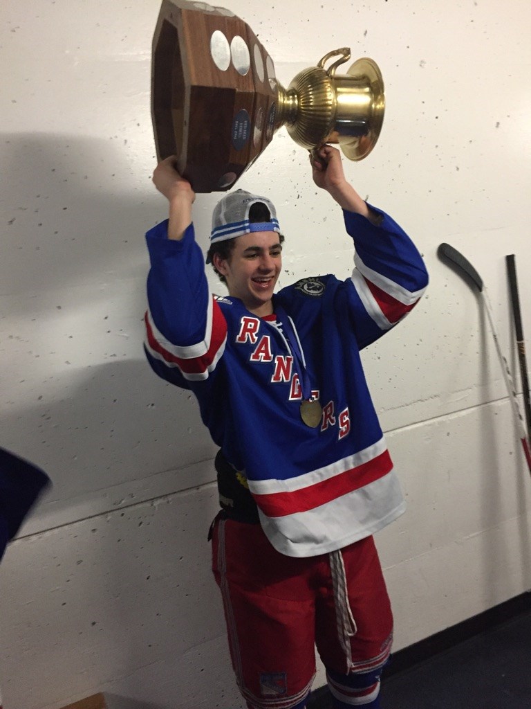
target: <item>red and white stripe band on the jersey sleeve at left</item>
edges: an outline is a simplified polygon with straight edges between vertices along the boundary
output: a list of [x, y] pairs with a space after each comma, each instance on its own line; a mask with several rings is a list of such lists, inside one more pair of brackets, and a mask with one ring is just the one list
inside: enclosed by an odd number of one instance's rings
[[183, 377], [190, 381], [207, 379], [225, 350], [227, 321], [212, 296], [209, 297], [205, 337], [195, 345], [183, 347], [166, 340], [156, 328], [149, 310], [144, 320], [147, 335], [145, 344], [149, 354], [164, 362], [166, 367], [178, 367]]

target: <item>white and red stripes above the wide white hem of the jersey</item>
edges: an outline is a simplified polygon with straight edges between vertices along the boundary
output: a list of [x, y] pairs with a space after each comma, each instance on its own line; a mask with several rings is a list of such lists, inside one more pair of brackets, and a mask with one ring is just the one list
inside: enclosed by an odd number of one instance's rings
[[268, 517], [308, 512], [369, 485], [393, 464], [382, 437], [374, 445], [323, 468], [287, 480], [248, 480], [258, 508]]

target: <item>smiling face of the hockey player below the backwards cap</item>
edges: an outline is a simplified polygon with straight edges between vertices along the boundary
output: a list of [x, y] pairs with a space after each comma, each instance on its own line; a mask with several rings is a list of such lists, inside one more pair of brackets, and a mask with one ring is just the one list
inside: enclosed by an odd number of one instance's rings
[[225, 277], [229, 294], [240, 298], [258, 316], [273, 312], [271, 298], [282, 267], [282, 245], [275, 231], [256, 231], [236, 237], [228, 259], [215, 255], [214, 265]]

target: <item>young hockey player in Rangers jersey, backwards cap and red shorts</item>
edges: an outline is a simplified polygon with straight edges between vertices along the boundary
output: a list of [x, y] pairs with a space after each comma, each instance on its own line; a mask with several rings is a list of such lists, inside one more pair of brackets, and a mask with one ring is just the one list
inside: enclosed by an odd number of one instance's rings
[[372, 535], [404, 499], [360, 350], [411, 311], [428, 278], [399, 225], [347, 182], [336, 148], [311, 162], [343, 208], [352, 277], [275, 293], [275, 207], [237, 190], [215, 208], [207, 255], [228, 296], [209, 290], [192, 187], [174, 158], [156, 167], [169, 220], [147, 233], [146, 352], [156, 374], [193, 391], [219, 446], [213, 568], [248, 707], [302, 709], [316, 644], [334, 705], [377, 709], [392, 613]]

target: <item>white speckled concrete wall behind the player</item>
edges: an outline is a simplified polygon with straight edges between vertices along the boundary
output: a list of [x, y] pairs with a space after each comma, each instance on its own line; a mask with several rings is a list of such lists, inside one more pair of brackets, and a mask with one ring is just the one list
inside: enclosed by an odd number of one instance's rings
[[[377, 537], [399, 649], [531, 585], [531, 481], [501, 368], [479, 298], [436, 257], [447, 241], [472, 260], [518, 372], [504, 256], [517, 255], [530, 337], [531, 8], [228, 6], [285, 86], [345, 45], [384, 75], [382, 136], [346, 169], [431, 274], [411, 317], [365, 353], [409, 500]], [[138, 709], [241, 707], [209, 569], [215, 448], [195, 402], [142, 354], [143, 234], [166, 216], [150, 182], [158, 13], [158, 0], [1, 6], [0, 445], [54, 481], [0, 569], [6, 709], [97, 691]], [[281, 284], [348, 276], [341, 213], [284, 129], [239, 186], [278, 205]], [[205, 247], [219, 196], [196, 201]]]

